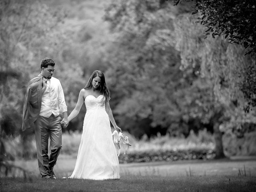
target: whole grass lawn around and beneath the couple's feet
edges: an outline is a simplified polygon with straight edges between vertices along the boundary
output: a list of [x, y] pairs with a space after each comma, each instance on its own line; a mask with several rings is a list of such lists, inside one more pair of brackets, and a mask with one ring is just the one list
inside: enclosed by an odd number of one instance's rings
[[[210, 160], [120, 164], [120, 180], [63, 179], [70, 176], [76, 159], [60, 156], [54, 172], [57, 180], [42, 180], [37, 161], [17, 161], [30, 171], [27, 178], [0, 178], [1, 192], [254, 192], [256, 160]], [[246, 176], [244, 176], [244, 168]], [[242, 173], [240, 176], [239, 170]]]

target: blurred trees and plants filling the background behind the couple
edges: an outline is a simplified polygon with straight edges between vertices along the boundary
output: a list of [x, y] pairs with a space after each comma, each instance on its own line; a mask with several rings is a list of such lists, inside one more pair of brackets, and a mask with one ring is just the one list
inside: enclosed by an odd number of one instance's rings
[[[2, 0], [1, 160], [35, 157], [33, 130], [21, 131], [22, 107], [28, 81], [45, 57], [56, 62], [68, 113], [92, 71], [106, 74], [133, 161], [193, 158], [198, 148], [205, 155], [196, 158], [255, 155], [255, 52], [246, 54], [244, 44], [222, 35], [205, 38], [207, 23], [196, 23], [200, 13], [191, 14], [193, 3]], [[77, 152], [85, 112], [83, 106], [63, 130], [67, 154]], [[174, 152], [180, 146], [182, 155]]]

